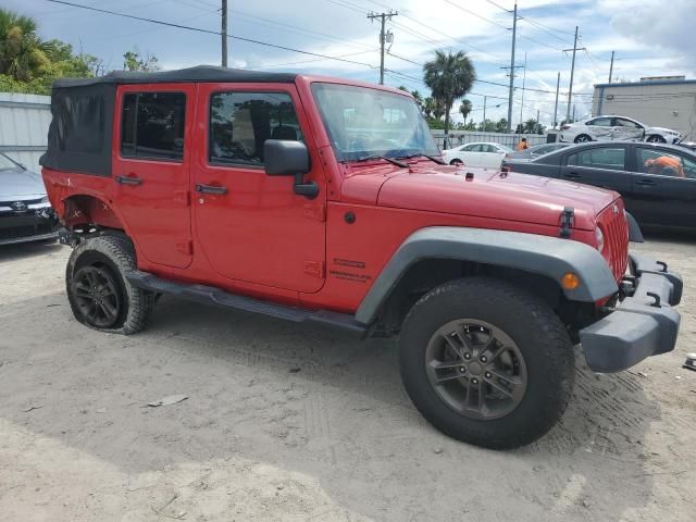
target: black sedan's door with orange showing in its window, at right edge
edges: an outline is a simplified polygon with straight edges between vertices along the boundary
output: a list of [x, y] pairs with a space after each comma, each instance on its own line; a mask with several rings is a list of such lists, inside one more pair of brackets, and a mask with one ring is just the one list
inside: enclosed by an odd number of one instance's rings
[[[633, 198], [626, 210], [641, 223], [696, 226], [696, 159], [648, 147], [635, 149]], [[662, 166], [658, 158], [673, 158], [679, 167]]]

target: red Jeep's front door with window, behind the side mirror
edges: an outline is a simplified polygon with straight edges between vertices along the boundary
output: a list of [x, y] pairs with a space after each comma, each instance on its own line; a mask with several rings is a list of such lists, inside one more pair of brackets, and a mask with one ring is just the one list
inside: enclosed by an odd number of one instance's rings
[[[204, 84], [199, 97], [194, 208], [206, 258], [231, 279], [318, 291], [325, 275], [325, 176], [295, 85]], [[291, 176], [265, 174], [266, 139], [307, 145], [306, 181], [319, 184], [318, 198], [296, 195]]]

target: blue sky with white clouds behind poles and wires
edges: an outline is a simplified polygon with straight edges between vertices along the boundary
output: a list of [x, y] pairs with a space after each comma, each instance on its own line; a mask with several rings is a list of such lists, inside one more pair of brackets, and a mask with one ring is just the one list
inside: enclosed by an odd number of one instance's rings
[[[74, 3], [138, 16], [219, 30], [220, 0], [71, 0]], [[164, 69], [220, 63], [220, 37], [162, 27], [146, 22], [99, 14], [46, 0], [3, 0], [3, 8], [37, 20], [47, 38], [60, 38], [75, 49], [120, 69], [123, 53], [137, 49], [158, 57]], [[378, 24], [366, 14], [389, 9], [399, 15], [387, 24], [394, 33], [385, 83], [406, 85], [426, 94], [421, 65], [435, 49], [463, 50], [471, 57], [481, 80], [506, 84], [501, 67], [510, 65], [513, 0], [229, 0], [229, 33], [285, 47], [359, 63], [319, 60], [316, 57], [232, 40], [231, 64], [272, 71], [330, 74], [378, 80]], [[692, 25], [696, 0], [519, 0], [517, 63], [526, 53], [525, 87], [515, 90], [513, 122], [536, 117], [550, 124], [557, 73], [561, 73], [559, 117], [567, 108], [570, 53], [575, 25], [581, 40], [573, 91], [576, 115], [589, 112], [593, 85], [609, 75], [616, 51], [613, 78], [642, 76], [693, 77], [696, 51]], [[515, 85], [522, 85], [522, 70]], [[550, 91], [550, 92], [544, 92]], [[488, 96], [486, 117], [507, 116], [508, 90], [476, 83], [469, 99], [483, 116], [483, 95]], [[496, 107], [499, 105], [499, 107]], [[461, 117], [459, 117], [461, 120]]]

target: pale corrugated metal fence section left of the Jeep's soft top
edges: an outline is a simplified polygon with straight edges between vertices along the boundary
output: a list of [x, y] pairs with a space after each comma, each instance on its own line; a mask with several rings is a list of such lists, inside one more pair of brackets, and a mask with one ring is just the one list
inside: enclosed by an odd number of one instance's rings
[[0, 92], [0, 152], [40, 172], [51, 123], [51, 97]]

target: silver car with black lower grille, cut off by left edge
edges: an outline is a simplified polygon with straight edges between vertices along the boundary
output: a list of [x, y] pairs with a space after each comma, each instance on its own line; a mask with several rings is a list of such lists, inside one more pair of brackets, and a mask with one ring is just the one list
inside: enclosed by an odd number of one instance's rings
[[41, 176], [0, 153], [0, 245], [53, 239], [57, 224]]

